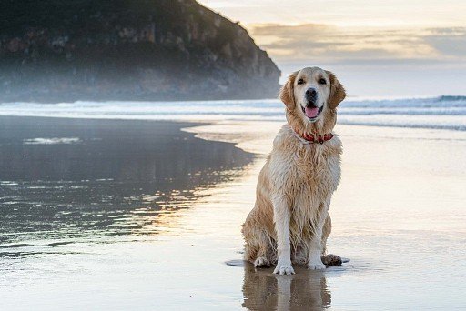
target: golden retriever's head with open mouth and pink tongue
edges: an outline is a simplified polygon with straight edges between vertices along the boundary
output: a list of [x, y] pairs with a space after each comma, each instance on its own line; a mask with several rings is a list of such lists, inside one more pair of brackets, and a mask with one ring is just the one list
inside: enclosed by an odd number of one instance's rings
[[287, 106], [287, 119], [304, 132], [331, 131], [336, 122], [336, 108], [345, 98], [343, 85], [331, 72], [307, 67], [289, 75], [280, 90]]

